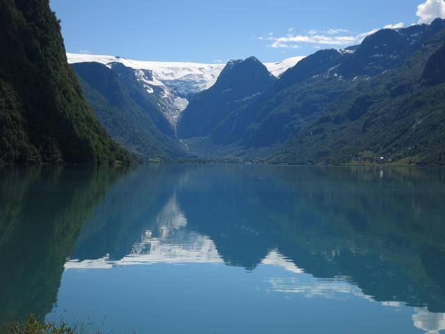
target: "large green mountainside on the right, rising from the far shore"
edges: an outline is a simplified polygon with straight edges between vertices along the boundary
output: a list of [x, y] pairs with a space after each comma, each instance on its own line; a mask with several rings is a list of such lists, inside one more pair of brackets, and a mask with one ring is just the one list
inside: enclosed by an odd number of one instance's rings
[[273, 161], [445, 164], [444, 22], [380, 31], [337, 69], [290, 88], [314, 109]]

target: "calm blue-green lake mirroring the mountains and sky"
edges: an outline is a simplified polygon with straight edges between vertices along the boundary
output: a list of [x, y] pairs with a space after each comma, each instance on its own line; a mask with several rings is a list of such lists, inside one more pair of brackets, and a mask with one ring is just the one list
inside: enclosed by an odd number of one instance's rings
[[0, 169], [0, 324], [439, 333], [445, 170]]

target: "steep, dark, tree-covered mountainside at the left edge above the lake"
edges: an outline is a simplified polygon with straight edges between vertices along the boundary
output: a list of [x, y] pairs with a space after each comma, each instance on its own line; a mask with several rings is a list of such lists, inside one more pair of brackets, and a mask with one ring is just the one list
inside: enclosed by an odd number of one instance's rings
[[0, 163], [128, 162], [85, 102], [48, 0], [0, 0]]

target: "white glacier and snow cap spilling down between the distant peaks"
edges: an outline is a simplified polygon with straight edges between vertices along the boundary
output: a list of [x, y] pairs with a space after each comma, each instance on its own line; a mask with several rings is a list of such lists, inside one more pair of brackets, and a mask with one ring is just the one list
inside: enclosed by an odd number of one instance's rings
[[[215, 84], [225, 64], [181, 63], [161, 61], [133, 61], [120, 56], [67, 53], [68, 63], [97, 62], [104, 65], [122, 63], [133, 68], [136, 78], [152, 94], [161, 89], [159, 108], [172, 125], [186, 106], [188, 97]], [[289, 67], [293, 67], [304, 57], [288, 58], [278, 63], [264, 63], [270, 73], [279, 77]], [[109, 66], [108, 66], [109, 67]], [[156, 88], [154, 88], [156, 86]]]

